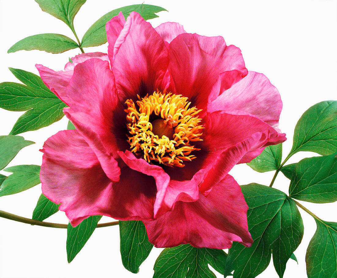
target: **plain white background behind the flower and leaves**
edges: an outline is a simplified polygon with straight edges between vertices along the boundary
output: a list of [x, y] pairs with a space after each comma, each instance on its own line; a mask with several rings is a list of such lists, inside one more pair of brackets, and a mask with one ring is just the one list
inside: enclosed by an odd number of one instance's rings
[[[75, 30], [81, 39], [91, 24], [103, 14], [136, 2], [88, 0], [75, 18]], [[263, 72], [270, 79], [283, 100], [280, 128], [288, 137], [283, 144], [284, 157], [292, 146], [293, 130], [302, 113], [317, 102], [337, 99], [337, 1], [147, 0], [145, 3], [162, 6], [169, 11], [160, 12], [159, 18], [151, 20], [154, 27], [172, 21], [183, 24], [190, 33], [221, 35], [227, 44], [235, 44], [242, 50], [248, 70]], [[37, 73], [34, 65], [41, 63], [61, 70], [69, 56], [79, 53], [75, 49], [56, 55], [36, 50], [7, 54], [12, 44], [30, 35], [61, 33], [71, 38], [73, 35], [62, 21], [42, 12], [33, 0], [0, 0], [0, 12], [0, 82], [18, 82], [8, 67]], [[105, 44], [85, 51], [106, 52], [106, 48]], [[0, 135], [8, 134], [21, 114], [0, 109]], [[36, 144], [24, 148], [8, 166], [40, 164], [41, 153], [38, 150], [43, 142], [58, 130], [65, 129], [66, 125], [67, 120], [63, 118], [49, 127], [22, 134]], [[314, 155], [298, 153], [288, 163]], [[239, 184], [258, 182], [268, 185], [274, 173], [259, 174], [247, 165], [237, 165], [231, 174]], [[274, 187], [287, 193], [288, 184], [289, 180], [280, 173]], [[3, 196], [0, 198], [0, 210], [31, 218], [40, 191], [38, 185], [16, 195]], [[336, 203], [301, 203], [322, 219], [337, 221]], [[306, 277], [305, 251], [316, 225], [307, 213], [301, 209], [300, 212], [305, 232], [301, 245], [295, 251], [299, 264], [289, 260], [284, 277]], [[106, 222], [111, 220], [107, 217], [102, 219]], [[47, 221], [67, 223], [63, 212], [58, 212]], [[0, 225], [2, 278], [152, 277], [155, 259], [161, 251], [154, 248], [139, 274], [135, 275], [122, 266], [118, 226], [96, 229], [82, 251], [68, 264], [66, 229], [30, 226], [2, 218]], [[277, 277], [272, 262], [258, 277]]]

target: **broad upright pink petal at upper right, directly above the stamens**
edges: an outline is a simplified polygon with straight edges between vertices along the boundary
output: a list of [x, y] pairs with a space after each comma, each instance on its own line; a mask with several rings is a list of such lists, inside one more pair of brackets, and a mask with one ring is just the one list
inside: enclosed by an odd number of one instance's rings
[[227, 46], [223, 37], [181, 34], [169, 46], [169, 71], [176, 92], [205, 109], [220, 73], [234, 84], [247, 75], [241, 50]]

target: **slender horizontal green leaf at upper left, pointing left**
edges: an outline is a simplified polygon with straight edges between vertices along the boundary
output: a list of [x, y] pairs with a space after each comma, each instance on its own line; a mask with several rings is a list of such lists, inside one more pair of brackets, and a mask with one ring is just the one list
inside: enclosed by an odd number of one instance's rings
[[19, 50], [43, 50], [50, 53], [62, 53], [79, 47], [71, 38], [60, 34], [38, 34], [24, 38], [8, 49], [7, 53]]

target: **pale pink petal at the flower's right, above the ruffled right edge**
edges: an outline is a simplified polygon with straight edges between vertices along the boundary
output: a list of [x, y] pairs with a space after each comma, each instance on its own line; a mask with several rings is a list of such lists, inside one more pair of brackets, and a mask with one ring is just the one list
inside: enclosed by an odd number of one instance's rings
[[262, 73], [248, 75], [230, 88], [218, 84], [218, 97], [208, 106], [208, 112], [239, 110], [255, 115], [272, 127], [278, 126], [282, 101], [278, 90]]

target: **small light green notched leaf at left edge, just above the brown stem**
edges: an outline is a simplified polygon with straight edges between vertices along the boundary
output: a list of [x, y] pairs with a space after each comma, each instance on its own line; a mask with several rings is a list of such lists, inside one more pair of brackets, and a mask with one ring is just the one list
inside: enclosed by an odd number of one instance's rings
[[22, 192], [40, 183], [40, 166], [38, 165], [17, 165], [6, 168], [4, 171], [13, 174], [2, 183], [0, 197]]

